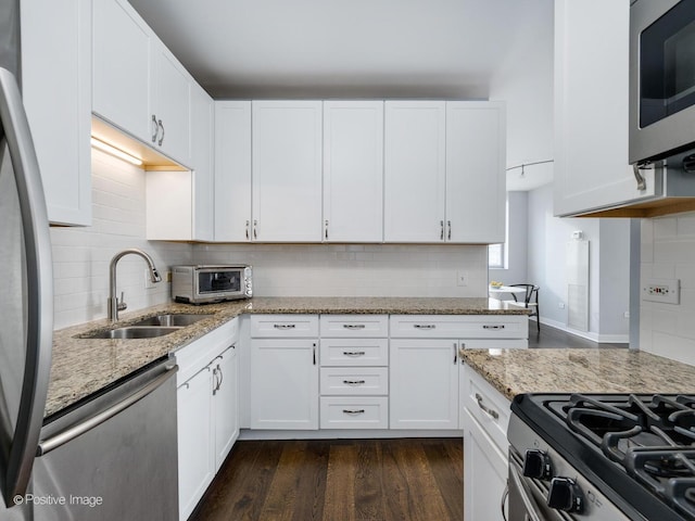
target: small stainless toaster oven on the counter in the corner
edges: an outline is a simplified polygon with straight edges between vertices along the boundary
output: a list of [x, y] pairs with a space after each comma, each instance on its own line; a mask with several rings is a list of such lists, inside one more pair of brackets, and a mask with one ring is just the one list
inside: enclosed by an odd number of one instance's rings
[[172, 297], [188, 304], [251, 298], [251, 266], [172, 266]]

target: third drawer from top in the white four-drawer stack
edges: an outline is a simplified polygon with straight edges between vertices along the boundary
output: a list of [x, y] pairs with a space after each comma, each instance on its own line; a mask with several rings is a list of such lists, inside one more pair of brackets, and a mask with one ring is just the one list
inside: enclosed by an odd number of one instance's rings
[[321, 367], [320, 394], [341, 396], [388, 395], [387, 367]]

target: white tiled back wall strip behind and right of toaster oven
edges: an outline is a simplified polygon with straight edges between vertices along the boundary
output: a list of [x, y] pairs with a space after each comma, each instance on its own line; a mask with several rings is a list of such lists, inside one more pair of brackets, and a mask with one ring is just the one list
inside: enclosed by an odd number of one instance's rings
[[[256, 296], [486, 296], [488, 246], [200, 244], [194, 260], [251, 264]], [[458, 271], [468, 284], [456, 284]]]

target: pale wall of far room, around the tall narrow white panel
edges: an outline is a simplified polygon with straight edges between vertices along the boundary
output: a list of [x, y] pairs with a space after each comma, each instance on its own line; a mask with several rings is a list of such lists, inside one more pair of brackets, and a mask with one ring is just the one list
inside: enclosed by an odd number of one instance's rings
[[630, 321], [623, 314], [630, 306], [630, 221], [554, 217], [551, 185], [528, 198], [528, 279], [541, 287], [542, 321], [568, 329], [566, 245], [572, 231], [581, 230], [590, 241], [590, 318], [587, 333], [573, 332], [597, 342], [628, 342]]

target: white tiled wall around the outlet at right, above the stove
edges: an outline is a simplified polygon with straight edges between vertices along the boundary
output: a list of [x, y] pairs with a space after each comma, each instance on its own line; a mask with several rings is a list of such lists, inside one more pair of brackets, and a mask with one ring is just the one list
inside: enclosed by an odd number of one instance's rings
[[642, 220], [641, 283], [680, 279], [680, 305], [640, 302], [640, 350], [695, 365], [695, 213]]

